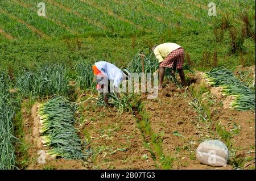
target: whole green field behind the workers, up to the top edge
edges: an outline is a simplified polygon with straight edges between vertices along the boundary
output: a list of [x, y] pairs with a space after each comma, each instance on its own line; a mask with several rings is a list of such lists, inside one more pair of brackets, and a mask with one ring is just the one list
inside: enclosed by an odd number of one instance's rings
[[[217, 49], [218, 63], [233, 68], [240, 57], [229, 53], [229, 30], [216, 42], [213, 30], [228, 15], [240, 35], [247, 13], [255, 31], [255, 1], [217, 1], [217, 16], [208, 16], [208, 1], [1, 1], [2, 69], [33, 66], [34, 62], [106, 60], [126, 65], [138, 52], [171, 41], [184, 47], [197, 68], [204, 52]], [[9, 35], [9, 36], [7, 36]], [[10, 36], [13, 37], [10, 40]], [[9, 37], [9, 39], [8, 39]], [[246, 65], [254, 64], [255, 44], [245, 37]], [[209, 57], [211, 59], [211, 57]], [[16, 70], [16, 68], [15, 68]]]

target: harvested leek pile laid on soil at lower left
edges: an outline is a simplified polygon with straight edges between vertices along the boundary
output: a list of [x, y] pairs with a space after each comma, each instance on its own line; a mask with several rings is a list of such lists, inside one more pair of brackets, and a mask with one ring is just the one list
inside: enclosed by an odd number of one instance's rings
[[55, 96], [47, 103], [39, 104], [40, 133], [47, 151], [56, 157], [67, 159], [85, 159], [88, 154], [82, 152], [81, 140], [73, 124], [76, 105], [63, 96]]

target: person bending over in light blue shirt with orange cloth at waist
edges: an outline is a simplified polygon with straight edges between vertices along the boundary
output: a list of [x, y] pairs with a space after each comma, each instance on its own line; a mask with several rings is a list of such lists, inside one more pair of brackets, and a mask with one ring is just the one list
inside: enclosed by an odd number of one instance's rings
[[[125, 72], [125, 73], [124, 73]], [[110, 92], [109, 81], [113, 82], [114, 92], [120, 98], [119, 85], [128, 79], [128, 73], [106, 61], [99, 61], [93, 65], [93, 74], [96, 75], [96, 89], [103, 94], [104, 102], [108, 105], [107, 93]]]

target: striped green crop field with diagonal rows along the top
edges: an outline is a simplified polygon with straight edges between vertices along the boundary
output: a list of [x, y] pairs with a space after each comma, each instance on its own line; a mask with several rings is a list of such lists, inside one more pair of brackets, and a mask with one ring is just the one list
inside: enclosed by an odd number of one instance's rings
[[[210, 28], [209, 24], [219, 17], [208, 16], [207, 1], [47, 0], [45, 3], [46, 17], [42, 17], [37, 15], [37, 2], [33, 0], [1, 1], [1, 10], [7, 13], [1, 12], [3, 30], [14, 37], [35, 36], [37, 32], [27, 24], [50, 37], [93, 31], [121, 35], [138, 30], [160, 33], [176, 26], [197, 30]], [[233, 14], [231, 18], [235, 18], [253, 3], [217, 1], [217, 15]], [[234, 6], [230, 7], [230, 4]], [[247, 11], [252, 12], [253, 7]]]

